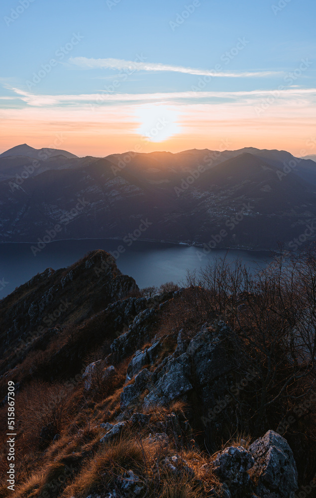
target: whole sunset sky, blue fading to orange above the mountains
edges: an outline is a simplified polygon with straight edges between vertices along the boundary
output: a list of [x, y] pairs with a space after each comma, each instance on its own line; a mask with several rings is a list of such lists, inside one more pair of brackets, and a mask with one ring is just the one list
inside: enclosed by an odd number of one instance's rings
[[315, 0], [7, 0], [0, 152], [316, 153]]

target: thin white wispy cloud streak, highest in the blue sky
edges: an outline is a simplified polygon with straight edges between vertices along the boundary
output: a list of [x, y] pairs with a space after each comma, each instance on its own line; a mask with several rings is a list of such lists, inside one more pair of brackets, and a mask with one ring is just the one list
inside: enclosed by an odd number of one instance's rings
[[87, 57], [71, 57], [70, 64], [81, 67], [82, 69], [116, 69], [129, 71], [171, 71], [174, 73], [192, 74], [195, 76], [213, 76], [220, 78], [251, 78], [260, 76], [271, 76], [283, 74], [280, 71], [246, 71], [246, 72], [225, 72], [210, 71], [207, 69], [194, 69], [191, 67], [172, 66], [168, 64], [150, 63], [150, 62], [133, 62], [123, 59], [90, 59]]

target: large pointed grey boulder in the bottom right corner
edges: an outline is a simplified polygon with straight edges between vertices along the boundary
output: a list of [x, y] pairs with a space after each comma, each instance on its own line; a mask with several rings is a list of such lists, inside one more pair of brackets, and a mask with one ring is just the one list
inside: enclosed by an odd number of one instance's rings
[[260, 498], [294, 498], [298, 489], [298, 472], [293, 452], [287, 441], [274, 431], [257, 439], [249, 452], [255, 460], [252, 474], [259, 479], [256, 494]]

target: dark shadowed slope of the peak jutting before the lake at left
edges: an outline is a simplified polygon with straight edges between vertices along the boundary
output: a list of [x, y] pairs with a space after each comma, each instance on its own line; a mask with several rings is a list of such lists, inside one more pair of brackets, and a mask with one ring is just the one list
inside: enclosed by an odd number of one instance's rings
[[13, 368], [47, 328], [81, 323], [137, 289], [134, 279], [122, 275], [103, 250], [92, 251], [68, 268], [47, 268], [1, 300], [0, 356], [6, 352]]

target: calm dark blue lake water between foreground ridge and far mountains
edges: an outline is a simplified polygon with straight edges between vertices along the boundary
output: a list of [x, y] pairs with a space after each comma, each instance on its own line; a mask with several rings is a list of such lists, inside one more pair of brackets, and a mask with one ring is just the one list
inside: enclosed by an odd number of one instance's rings
[[[121, 244], [108, 239], [56, 241], [47, 244], [36, 256], [31, 250], [32, 244], [0, 244], [0, 299], [48, 267], [57, 270], [69, 266], [94, 249], [105, 249], [116, 255]], [[226, 249], [212, 249], [201, 257], [201, 248], [141, 241], [135, 241], [130, 247], [125, 244], [124, 248], [125, 252], [119, 254], [116, 264], [122, 273], [136, 280], [139, 288], [159, 286], [168, 281], [180, 282], [187, 269], [199, 270], [227, 252]], [[228, 258], [237, 257], [249, 268], [257, 268], [258, 265], [266, 266], [271, 253], [230, 249]]]

